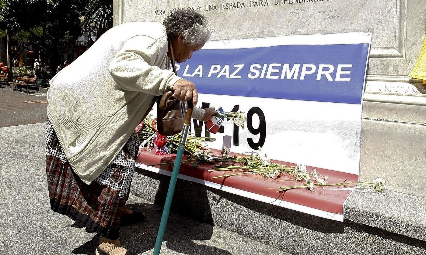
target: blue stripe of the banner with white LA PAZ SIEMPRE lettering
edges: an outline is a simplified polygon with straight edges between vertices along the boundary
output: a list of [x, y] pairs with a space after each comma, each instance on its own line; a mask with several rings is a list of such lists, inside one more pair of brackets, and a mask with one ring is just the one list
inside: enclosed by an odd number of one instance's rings
[[206, 49], [178, 75], [199, 93], [361, 104], [368, 43]]

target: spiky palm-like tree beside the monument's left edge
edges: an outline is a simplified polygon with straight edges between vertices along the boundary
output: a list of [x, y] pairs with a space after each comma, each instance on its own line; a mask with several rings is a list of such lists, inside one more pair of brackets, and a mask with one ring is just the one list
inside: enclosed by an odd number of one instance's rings
[[82, 17], [83, 29], [100, 37], [112, 28], [112, 0], [89, 0]]

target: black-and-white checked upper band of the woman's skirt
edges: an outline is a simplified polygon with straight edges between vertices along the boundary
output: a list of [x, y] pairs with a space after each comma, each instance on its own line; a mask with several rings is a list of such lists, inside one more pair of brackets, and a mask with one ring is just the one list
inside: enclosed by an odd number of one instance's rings
[[[52, 143], [52, 139], [54, 137], [55, 131], [53, 130], [52, 122], [48, 119], [46, 123], [46, 154], [49, 156], [55, 156], [62, 162], [67, 162], [68, 160], [66, 159], [61, 146], [47, 146]], [[139, 138], [136, 133], [133, 133], [124, 145], [124, 148], [120, 151], [120, 153], [118, 153], [112, 163], [107, 166], [104, 172], [95, 179], [95, 181], [99, 184], [107, 185], [113, 190], [117, 190], [119, 192], [119, 197], [126, 196], [129, 191], [130, 184], [132, 183], [138, 148]]]

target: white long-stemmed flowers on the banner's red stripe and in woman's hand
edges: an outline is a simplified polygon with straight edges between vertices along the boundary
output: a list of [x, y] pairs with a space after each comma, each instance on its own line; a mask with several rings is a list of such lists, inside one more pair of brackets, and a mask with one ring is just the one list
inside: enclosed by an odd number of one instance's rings
[[[223, 113], [222, 113], [223, 114]], [[235, 115], [227, 115], [230, 119], [235, 119], [234, 122], [242, 123], [242, 112], [235, 113]], [[222, 116], [223, 117], [223, 116]], [[155, 149], [157, 155], [166, 155], [175, 153], [179, 146], [180, 133], [174, 136], [161, 136], [156, 132], [155, 120], [147, 117], [138, 131], [138, 136], [141, 141], [147, 144], [147, 150]], [[151, 124], [151, 125], [147, 125]], [[269, 179], [278, 179], [277, 181], [296, 181], [300, 185], [282, 186], [277, 189], [277, 192], [283, 192], [293, 189], [308, 189], [314, 192], [315, 188], [325, 189], [329, 188], [356, 188], [363, 190], [376, 190], [381, 194], [385, 194], [386, 181], [383, 178], [376, 178], [371, 182], [356, 182], [356, 181], [343, 181], [340, 183], [328, 183], [328, 176], [322, 176], [313, 169], [311, 173], [308, 172], [306, 166], [298, 164], [296, 166], [284, 165], [271, 162], [266, 153], [259, 147], [259, 151], [252, 156], [244, 154], [231, 155], [230, 151], [225, 147], [222, 151], [214, 152], [207, 148], [204, 137], [196, 137], [188, 135], [185, 153], [188, 155], [187, 159], [182, 160], [182, 163], [191, 164], [197, 168], [199, 164], [212, 165], [212, 171], [228, 172], [221, 176], [213, 178], [228, 178], [237, 175], [253, 174], [259, 175]], [[165, 162], [160, 164], [153, 164], [149, 166], [156, 166], [162, 164], [173, 164], [174, 162]]]

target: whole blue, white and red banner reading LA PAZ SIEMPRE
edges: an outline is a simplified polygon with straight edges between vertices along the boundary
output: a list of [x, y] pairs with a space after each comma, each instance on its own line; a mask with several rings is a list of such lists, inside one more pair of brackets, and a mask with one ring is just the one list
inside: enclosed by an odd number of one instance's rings
[[[370, 33], [297, 35], [207, 42], [178, 75], [196, 84], [199, 106], [245, 111], [245, 128], [232, 121], [207, 132], [193, 120], [197, 136], [214, 137], [208, 147], [222, 149], [232, 137], [233, 153], [262, 147], [278, 163], [305, 164], [308, 171], [328, 176], [328, 183], [358, 181], [362, 98]], [[209, 128], [214, 123], [209, 124]], [[216, 125], [216, 127], [219, 127]], [[216, 129], [215, 129], [216, 131]], [[137, 167], [170, 175], [174, 155], [141, 150]], [[351, 189], [331, 187], [276, 193], [286, 182], [261, 176], [214, 178], [225, 173], [200, 165], [182, 164], [178, 178], [204, 184], [300, 212], [343, 221], [343, 205]], [[297, 182], [288, 185], [297, 185]]]

